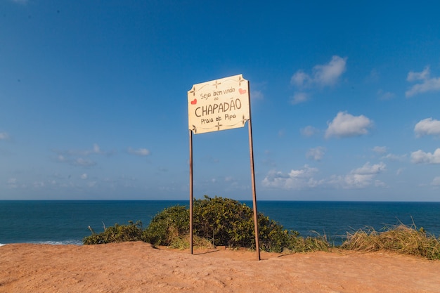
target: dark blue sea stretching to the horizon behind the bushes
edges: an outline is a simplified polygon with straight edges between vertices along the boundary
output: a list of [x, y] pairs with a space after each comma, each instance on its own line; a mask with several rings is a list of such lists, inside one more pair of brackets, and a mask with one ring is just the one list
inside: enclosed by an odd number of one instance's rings
[[[252, 207], [252, 202], [244, 201]], [[145, 201], [0, 201], [0, 245], [49, 243], [81, 245], [103, 226], [150, 220], [166, 207], [188, 200]], [[339, 245], [348, 232], [403, 223], [440, 236], [440, 202], [257, 202], [258, 211], [300, 235], [326, 235]]]

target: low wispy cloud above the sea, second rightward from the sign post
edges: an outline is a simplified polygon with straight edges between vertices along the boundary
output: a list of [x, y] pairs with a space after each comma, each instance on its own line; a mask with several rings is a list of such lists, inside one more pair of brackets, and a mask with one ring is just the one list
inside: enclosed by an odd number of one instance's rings
[[380, 162], [379, 164], [371, 165], [370, 162], [367, 162], [358, 169], [353, 169], [346, 176], [333, 176], [330, 183], [341, 185], [342, 188], [366, 188], [370, 185], [374, 185], [377, 187], [384, 186], [382, 181], [375, 180], [375, 176], [380, 174], [387, 167], [386, 164]]

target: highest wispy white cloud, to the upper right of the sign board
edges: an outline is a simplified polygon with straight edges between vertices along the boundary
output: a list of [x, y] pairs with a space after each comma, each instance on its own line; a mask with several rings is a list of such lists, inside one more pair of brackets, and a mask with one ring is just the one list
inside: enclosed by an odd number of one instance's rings
[[337, 83], [339, 77], [345, 72], [347, 57], [332, 56], [332, 60], [324, 65], [313, 67], [311, 76], [303, 70], [298, 70], [293, 74], [290, 82], [300, 88], [308, 88], [313, 84], [318, 86], [333, 86]]

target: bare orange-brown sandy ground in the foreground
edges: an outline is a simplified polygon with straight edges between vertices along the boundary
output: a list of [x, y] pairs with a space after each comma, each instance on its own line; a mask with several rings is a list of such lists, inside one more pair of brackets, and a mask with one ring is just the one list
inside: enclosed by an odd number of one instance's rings
[[440, 292], [440, 261], [389, 253], [0, 247], [0, 292]]

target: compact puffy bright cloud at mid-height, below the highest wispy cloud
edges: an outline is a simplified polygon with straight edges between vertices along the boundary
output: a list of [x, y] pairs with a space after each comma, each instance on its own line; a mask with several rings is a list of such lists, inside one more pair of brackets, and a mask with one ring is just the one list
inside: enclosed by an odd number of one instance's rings
[[363, 115], [353, 116], [347, 112], [339, 112], [335, 119], [328, 123], [325, 138], [361, 136], [368, 134], [368, 128], [371, 126], [373, 126], [373, 122]]

